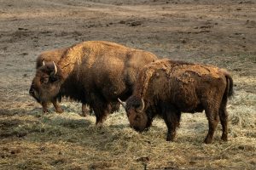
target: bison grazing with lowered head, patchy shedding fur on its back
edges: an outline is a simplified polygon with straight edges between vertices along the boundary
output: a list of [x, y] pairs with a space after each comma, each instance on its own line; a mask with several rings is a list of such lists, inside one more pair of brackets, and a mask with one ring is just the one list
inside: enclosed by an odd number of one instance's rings
[[209, 130], [205, 143], [212, 142], [218, 124], [227, 137], [227, 99], [233, 94], [233, 80], [223, 69], [212, 65], [189, 64], [159, 59], [140, 71], [135, 90], [125, 107], [131, 127], [143, 131], [160, 115], [168, 128], [167, 141], [172, 141], [179, 126], [181, 112], [206, 111]]

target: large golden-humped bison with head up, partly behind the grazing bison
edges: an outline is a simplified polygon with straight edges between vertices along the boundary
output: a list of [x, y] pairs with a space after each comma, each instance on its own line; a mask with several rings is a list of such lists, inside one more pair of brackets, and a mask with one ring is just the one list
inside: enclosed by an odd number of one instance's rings
[[[81, 42], [67, 48], [58, 62], [45, 63], [32, 80], [32, 95], [44, 104], [60, 96], [90, 105], [96, 123], [127, 99], [138, 71], [157, 57], [113, 42]], [[44, 107], [44, 105], [43, 105]]]

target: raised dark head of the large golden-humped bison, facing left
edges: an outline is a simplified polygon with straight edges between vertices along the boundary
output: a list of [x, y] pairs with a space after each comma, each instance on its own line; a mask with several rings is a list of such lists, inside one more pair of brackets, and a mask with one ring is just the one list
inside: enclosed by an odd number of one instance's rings
[[43, 61], [43, 65], [38, 68], [36, 76], [32, 80], [29, 94], [38, 103], [49, 102], [59, 94], [62, 82], [61, 69], [58, 69], [55, 62], [45, 64]]

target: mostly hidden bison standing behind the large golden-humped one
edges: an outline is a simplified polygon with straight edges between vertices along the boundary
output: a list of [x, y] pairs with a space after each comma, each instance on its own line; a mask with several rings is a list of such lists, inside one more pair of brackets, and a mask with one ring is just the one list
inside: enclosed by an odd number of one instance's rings
[[[44, 52], [43, 54], [39, 54], [38, 58], [37, 58], [37, 61], [36, 61], [36, 69], [38, 69], [39, 67], [45, 65], [45, 63], [49, 63], [49, 62], [52, 62], [54, 61], [55, 63], [57, 63], [60, 59], [61, 59], [61, 56], [63, 54], [65, 54], [65, 52], [67, 51], [67, 48], [59, 48], [59, 49], [55, 49], [55, 50], [52, 50], [52, 51], [46, 51]], [[35, 92], [33, 90], [33, 86], [31, 86], [30, 90], [29, 90], [29, 94], [32, 95], [32, 97], [35, 98]], [[37, 98], [35, 98], [37, 99]], [[59, 96], [58, 99], [53, 99], [51, 101], [51, 103], [54, 105], [55, 107], [55, 111], [57, 113], [62, 113], [63, 110], [61, 109], [61, 106], [58, 105], [58, 101], [61, 101], [61, 96]], [[42, 105], [43, 105], [43, 111], [44, 112], [48, 112], [48, 108], [47, 108], [47, 103], [45, 102], [42, 102]], [[88, 108], [87, 105], [85, 104], [82, 104], [82, 116], [86, 116], [87, 113], [91, 113], [92, 110]]]

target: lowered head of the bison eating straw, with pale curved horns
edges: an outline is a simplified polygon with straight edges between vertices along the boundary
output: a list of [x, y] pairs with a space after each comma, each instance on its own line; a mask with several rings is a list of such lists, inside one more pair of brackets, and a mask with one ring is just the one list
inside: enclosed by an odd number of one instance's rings
[[130, 126], [138, 132], [142, 132], [151, 125], [151, 121], [144, 110], [143, 99], [131, 96], [126, 103], [119, 99], [121, 105], [124, 106], [126, 115], [130, 122]]

